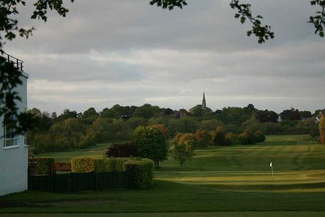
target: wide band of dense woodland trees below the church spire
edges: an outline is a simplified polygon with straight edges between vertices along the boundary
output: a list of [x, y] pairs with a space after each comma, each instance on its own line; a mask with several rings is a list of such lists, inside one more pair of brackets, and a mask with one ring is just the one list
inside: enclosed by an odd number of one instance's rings
[[[89, 108], [83, 113], [66, 109], [62, 114], [28, 110], [34, 117], [34, 128], [28, 131], [27, 142], [36, 151], [84, 148], [96, 143], [129, 140], [138, 126], [163, 125], [167, 137], [178, 133], [196, 133], [197, 130], [213, 131], [222, 127], [225, 134], [241, 134], [245, 130], [263, 134], [308, 134], [318, 136], [314, 116], [309, 111], [295, 109], [280, 113], [277, 123], [274, 111], [258, 110], [253, 105], [228, 107], [215, 112], [195, 109], [172, 110], [145, 104], [136, 106], [114, 105], [97, 112]], [[325, 109], [324, 109], [325, 112]]]

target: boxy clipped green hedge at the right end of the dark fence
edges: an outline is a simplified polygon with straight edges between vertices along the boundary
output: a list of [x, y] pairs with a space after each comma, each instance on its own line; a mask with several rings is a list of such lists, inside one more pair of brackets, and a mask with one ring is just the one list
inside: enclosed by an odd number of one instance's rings
[[146, 189], [153, 185], [154, 162], [149, 159], [131, 159], [125, 162], [125, 170], [133, 173], [135, 188]]

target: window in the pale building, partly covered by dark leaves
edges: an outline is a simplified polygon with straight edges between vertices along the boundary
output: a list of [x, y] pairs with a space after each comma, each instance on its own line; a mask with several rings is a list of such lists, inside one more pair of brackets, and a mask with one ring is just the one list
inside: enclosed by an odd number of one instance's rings
[[4, 147], [19, 145], [16, 133], [17, 118], [15, 115], [12, 116], [12, 120], [4, 126]]

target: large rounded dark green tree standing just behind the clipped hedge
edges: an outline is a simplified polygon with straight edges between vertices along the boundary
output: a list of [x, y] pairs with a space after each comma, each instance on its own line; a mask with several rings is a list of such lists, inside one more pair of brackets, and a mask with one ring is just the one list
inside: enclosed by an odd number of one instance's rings
[[131, 141], [137, 146], [139, 156], [153, 160], [155, 168], [167, 159], [166, 139], [157, 128], [140, 126], [134, 131]]

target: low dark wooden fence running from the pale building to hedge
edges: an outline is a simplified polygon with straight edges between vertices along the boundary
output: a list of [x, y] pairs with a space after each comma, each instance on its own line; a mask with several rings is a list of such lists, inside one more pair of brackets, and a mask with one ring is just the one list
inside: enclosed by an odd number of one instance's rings
[[133, 188], [133, 175], [129, 171], [28, 176], [31, 191], [66, 193], [127, 188]]

